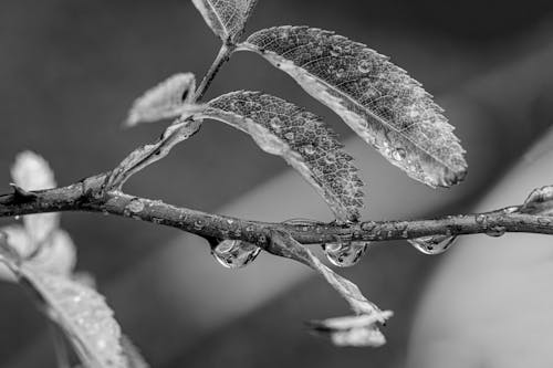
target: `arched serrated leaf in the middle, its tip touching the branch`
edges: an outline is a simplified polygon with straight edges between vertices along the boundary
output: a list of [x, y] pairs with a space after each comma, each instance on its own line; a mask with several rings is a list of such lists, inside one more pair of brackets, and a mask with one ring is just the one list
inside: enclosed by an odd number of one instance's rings
[[325, 199], [341, 221], [355, 221], [363, 186], [352, 157], [316, 115], [258, 92], [222, 95], [194, 118], [212, 118], [248, 133], [271, 155], [281, 156]]

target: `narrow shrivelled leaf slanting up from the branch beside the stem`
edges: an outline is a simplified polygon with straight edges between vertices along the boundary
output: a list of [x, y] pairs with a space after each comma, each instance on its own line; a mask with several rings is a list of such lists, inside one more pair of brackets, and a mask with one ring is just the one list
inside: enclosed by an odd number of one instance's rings
[[200, 120], [185, 118], [167, 127], [156, 144], [135, 149], [107, 176], [105, 190], [119, 190], [133, 175], [167, 156], [175, 145], [190, 138], [200, 126]]

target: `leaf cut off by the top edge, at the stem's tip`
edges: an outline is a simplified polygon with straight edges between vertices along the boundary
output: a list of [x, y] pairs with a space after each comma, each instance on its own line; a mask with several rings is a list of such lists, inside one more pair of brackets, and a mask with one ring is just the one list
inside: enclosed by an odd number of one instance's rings
[[192, 0], [206, 23], [223, 42], [240, 38], [257, 0]]

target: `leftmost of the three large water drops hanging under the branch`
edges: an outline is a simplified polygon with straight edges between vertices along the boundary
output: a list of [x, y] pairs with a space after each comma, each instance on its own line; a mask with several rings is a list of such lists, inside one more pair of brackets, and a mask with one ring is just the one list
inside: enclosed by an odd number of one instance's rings
[[261, 252], [261, 249], [240, 240], [225, 240], [211, 249], [213, 257], [226, 269], [247, 266]]

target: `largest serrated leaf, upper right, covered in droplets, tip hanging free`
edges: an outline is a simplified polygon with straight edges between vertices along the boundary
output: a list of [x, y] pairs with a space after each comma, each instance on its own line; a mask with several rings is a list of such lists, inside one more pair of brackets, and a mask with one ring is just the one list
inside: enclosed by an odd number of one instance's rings
[[306, 27], [258, 31], [238, 50], [255, 52], [288, 73], [409, 177], [430, 187], [465, 178], [465, 150], [442, 109], [386, 56]]

